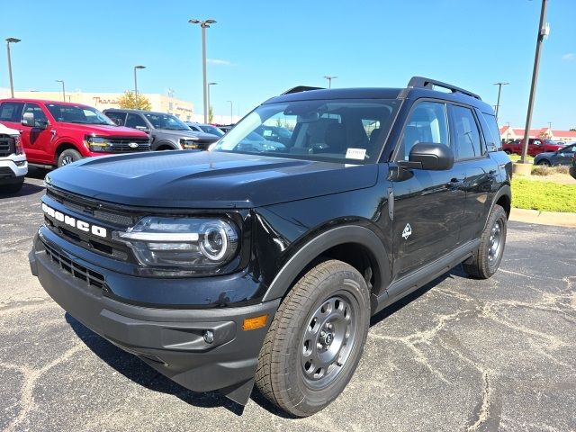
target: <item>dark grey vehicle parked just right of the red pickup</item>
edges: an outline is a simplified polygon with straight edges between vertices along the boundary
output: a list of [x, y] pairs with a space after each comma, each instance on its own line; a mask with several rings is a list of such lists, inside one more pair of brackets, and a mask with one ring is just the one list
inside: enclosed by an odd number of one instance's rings
[[205, 150], [219, 138], [211, 133], [195, 132], [166, 112], [111, 108], [103, 113], [116, 124], [148, 133], [152, 150]]

